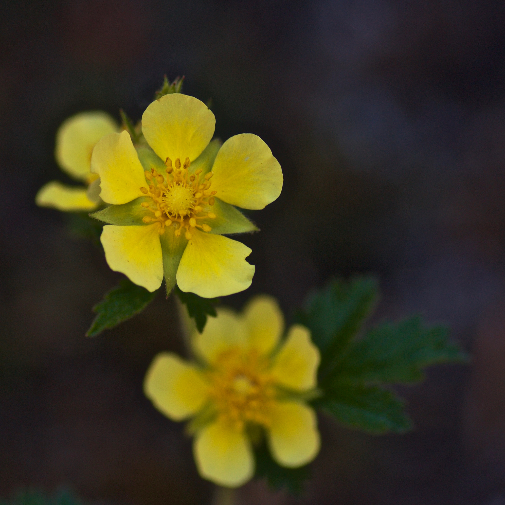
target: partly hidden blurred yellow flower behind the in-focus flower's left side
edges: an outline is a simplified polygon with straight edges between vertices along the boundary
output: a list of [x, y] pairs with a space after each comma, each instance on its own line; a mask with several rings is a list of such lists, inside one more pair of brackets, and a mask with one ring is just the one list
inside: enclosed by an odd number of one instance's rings
[[98, 196], [98, 176], [91, 173], [91, 153], [100, 138], [118, 130], [116, 121], [105, 112], [81, 112], [64, 121], [56, 134], [56, 161], [68, 175], [88, 187], [51, 181], [38, 191], [36, 204], [60, 211], [95, 210], [102, 200]]

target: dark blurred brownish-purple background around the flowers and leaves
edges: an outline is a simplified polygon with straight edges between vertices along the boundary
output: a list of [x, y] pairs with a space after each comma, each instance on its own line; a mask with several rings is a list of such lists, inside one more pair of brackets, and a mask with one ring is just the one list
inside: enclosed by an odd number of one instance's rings
[[208, 503], [180, 424], [142, 379], [182, 351], [172, 299], [96, 339], [121, 277], [57, 211], [36, 208], [60, 123], [134, 119], [162, 83], [213, 100], [216, 134], [260, 135], [284, 189], [243, 237], [257, 292], [289, 316], [332, 275], [375, 272], [376, 320], [446, 323], [473, 364], [402, 388], [417, 430], [372, 437], [321, 417], [307, 495], [242, 502], [505, 503], [505, 4], [4, 1], [0, 25], [0, 497], [70, 484], [123, 505]]

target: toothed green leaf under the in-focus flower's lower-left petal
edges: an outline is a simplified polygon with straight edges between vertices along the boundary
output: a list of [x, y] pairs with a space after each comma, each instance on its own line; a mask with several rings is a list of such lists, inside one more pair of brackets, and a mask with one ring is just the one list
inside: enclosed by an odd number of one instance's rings
[[151, 293], [142, 286], [122, 279], [119, 286], [105, 294], [103, 301], [93, 307], [97, 315], [86, 333], [95, 337], [105, 329], [114, 328], [143, 311], [155, 299], [157, 291]]

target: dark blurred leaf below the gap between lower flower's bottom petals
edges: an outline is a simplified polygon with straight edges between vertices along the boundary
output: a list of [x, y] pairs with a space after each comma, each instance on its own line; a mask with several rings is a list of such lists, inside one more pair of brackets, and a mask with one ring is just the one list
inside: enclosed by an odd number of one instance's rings
[[286, 468], [278, 465], [270, 456], [266, 443], [255, 450], [255, 477], [267, 479], [268, 485], [279, 490], [286, 488], [291, 494], [299, 496], [304, 490], [304, 484], [310, 477], [308, 465], [298, 468]]

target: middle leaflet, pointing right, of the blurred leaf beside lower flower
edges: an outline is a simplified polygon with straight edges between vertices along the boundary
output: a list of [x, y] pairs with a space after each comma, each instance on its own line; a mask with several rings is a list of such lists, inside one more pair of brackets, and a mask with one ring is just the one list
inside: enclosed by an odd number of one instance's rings
[[446, 328], [425, 328], [416, 316], [370, 330], [342, 359], [337, 374], [368, 383], [413, 383], [424, 378], [424, 367], [466, 361], [466, 353], [448, 340]]

